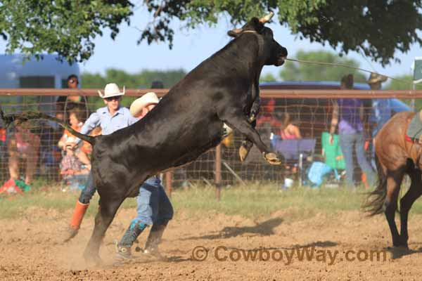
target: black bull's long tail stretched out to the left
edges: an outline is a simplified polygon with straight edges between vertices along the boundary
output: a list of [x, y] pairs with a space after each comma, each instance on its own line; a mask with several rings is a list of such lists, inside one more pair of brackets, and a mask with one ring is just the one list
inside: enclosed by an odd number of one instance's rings
[[1, 110], [0, 108], [0, 117], [1, 119], [3, 119], [4, 124], [6, 125], [6, 127], [8, 127], [10, 124], [12, 124], [13, 122], [18, 122], [18, 123], [22, 123], [22, 122], [26, 122], [28, 120], [31, 119], [46, 119], [46, 120], [50, 120], [53, 122], [57, 122], [60, 126], [62, 126], [64, 129], [70, 131], [70, 133], [72, 133], [72, 135], [77, 136], [77, 138], [80, 138], [82, 141], [87, 141], [88, 143], [91, 143], [91, 145], [95, 144], [95, 137], [94, 136], [87, 136], [84, 135], [83, 133], [79, 133], [78, 131], [75, 131], [74, 129], [72, 129], [71, 126], [69, 126], [68, 124], [65, 124], [63, 122], [61, 122], [59, 119], [57, 119], [56, 117], [51, 117], [49, 115], [46, 115], [44, 113], [41, 112], [24, 112], [22, 114], [16, 115], [4, 115], [3, 110]]

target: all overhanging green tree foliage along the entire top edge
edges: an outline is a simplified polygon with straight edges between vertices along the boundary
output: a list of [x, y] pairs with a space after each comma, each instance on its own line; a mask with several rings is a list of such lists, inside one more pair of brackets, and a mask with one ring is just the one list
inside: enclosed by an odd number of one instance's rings
[[120, 23], [130, 23], [139, 6], [147, 8], [152, 20], [141, 27], [138, 43], [167, 41], [170, 48], [176, 19], [195, 28], [215, 25], [229, 15], [233, 25], [241, 25], [269, 10], [300, 38], [329, 44], [341, 53], [362, 51], [382, 64], [395, 58], [395, 51], [422, 45], [422, 0], [150, 0], [136, 7], [124, 0], [0, 0], [0, 37], [9, 53], [58, 53], [82, 62], [92, 55], [93, 41], [104, 27], [112, 30], [114, 39]]

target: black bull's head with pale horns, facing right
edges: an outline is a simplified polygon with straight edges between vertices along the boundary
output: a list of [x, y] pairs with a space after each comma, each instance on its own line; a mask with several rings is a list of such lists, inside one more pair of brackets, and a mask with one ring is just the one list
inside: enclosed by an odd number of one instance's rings
[[231, 37], [239, 37], [241, 34], [247, 32], [253, 32], [260, 34], [264, 39], [264, 53], [265, 53], [265, 65], [283, 65], [284, 60], [287, 57], [287, 49], [281, 46], [277, 41], [274, 40], [273, 32], [270, 28], [265, 27], [265, 22], [271, 20], [273, 12], [258, 19], [252, 18], [249, 22], [243, 25], [242, 28], [236, 28], [227, 32]]

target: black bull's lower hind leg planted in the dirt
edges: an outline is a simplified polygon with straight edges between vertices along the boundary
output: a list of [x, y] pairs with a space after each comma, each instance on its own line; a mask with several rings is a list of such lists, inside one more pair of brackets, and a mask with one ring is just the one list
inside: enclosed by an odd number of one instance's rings
[[91, 235], [91, 239], [88, 242], [87, 248], [84, 251], [84, 258], [86, 261], [94, 261], [94, 263], [101, 263], [99, 256], [100, 245], [103, 241], [103, 237], [106, 234], [106, 230], [119, 209], [120, 204], [123, 200], [103, 200], [101, 199], [100, 208], [95, 217], [94, 231]]

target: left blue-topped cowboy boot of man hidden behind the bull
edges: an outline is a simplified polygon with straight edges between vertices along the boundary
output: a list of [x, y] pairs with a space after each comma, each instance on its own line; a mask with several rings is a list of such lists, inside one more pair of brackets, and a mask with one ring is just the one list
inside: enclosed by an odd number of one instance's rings
[[145, 228], [145, 224], [139, 223], [138, 221], [132, 221], [129, 228], [127, 228], [124, 233], [122, 240], [116, 244], [117, 256], [115, 260], [117, 262], [132, 259], [130, 248]]

